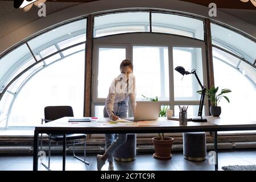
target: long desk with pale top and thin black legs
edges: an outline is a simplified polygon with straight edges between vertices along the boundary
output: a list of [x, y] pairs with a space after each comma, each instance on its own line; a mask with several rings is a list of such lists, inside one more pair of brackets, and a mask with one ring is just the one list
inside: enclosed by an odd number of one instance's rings
[[215, 170], [218, 170], [217, 131], [256, 130], [256, 121], [244, 118], [205, 117], [208, 122], [188, 122], [180, 126], [179, 121], [159, 118], [156, 121], [109, 123], [109, 118], [99, 118], [92, 122], [68, 122], [71, 117], [64, 117], [44, 125], [36, 126], [34, 131], [33, 170], [38, 170], [38, 135], [39, 133], [63, 134], [63, 170], [65, 170], [66, 134], [111, 134], [111, 133], [184, 133], [214, 132], [214, 150], [216, 151]]

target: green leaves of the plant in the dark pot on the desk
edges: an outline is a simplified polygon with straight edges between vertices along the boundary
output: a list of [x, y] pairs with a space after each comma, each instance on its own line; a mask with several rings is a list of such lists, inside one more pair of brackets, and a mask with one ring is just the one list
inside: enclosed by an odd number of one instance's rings
[[[218, 106], [222, 97], [224, 97], [226, 99], [226, 101], [230, 102], [228, 97], [223, 96], [224, 93], [232, 92], [230, 89], [222, 89], [221, 93], [219, 93], [219, 94], [217, 94], [217, 92], [218, 92], [218, 86], [217, 86], [217, 88], [212, 86], [212, 88], [206, 89], [206, 91], [205, 91], [205, 96], [207, 96], [208, 100], [210, 100], [210, 102], [212, 102], [213, 107]], [[197, 91], [197, 93], [202, 94], [202, 90]]]

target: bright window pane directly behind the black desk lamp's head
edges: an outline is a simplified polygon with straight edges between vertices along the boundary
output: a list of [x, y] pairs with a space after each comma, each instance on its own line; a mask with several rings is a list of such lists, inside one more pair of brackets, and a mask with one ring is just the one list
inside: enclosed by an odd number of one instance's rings
[[[192, 69], [196, 69], [199, 80], [204, 84], [201, 48], [174, 47], [173, 56], [174, 69], [177, 66], [184, 67], [189, 72]], [[196, 93], [197, 90], [201, 90], [201, 87], [195, 75], [183, 76], [179, 72], [174, 71], [175, 101], [199, 101], [200, 94]]]

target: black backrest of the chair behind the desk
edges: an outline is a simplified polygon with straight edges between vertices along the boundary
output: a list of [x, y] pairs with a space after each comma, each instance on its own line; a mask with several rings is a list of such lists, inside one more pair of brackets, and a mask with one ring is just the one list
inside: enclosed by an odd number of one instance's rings
[[[47, 106], [44, 108], [44, 119], [55, 120], [63, 117], [73, 117], [71, 106]], [[47, 121], [46, 121], [47, 122]]]

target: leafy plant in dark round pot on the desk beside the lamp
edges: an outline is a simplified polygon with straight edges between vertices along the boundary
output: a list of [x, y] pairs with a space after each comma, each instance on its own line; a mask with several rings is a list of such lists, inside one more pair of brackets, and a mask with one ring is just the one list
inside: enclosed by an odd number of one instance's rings
[[[214, 117], [219, 117], [221, 114], [221, 107], [218, 106], [218, 104], [220, 103], [222, 97], [224, 97], [226, 101], [230, 102], [229, 98], [224, 96], [223, 94], [229, 93], [232, 91], [230, 89], [222, 89], [221, 93], [217, 94], [217, 92], [218, 92], [218, 86], [217, 88], [212, 86], [212, 88], [207, 89], [205, 91], [205, 96], [207, 96], [208, 100], [210, 100], [211, 102], [210, 114], [212, 114], [212, 116]], [[197, 93], [202, 94], [202, 90], [197, 91]]]

